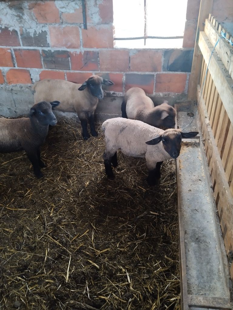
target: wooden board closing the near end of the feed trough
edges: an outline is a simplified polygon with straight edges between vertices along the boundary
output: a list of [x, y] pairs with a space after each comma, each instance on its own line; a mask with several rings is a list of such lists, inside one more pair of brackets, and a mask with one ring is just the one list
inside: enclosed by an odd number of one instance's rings
[[[211, 308], [232, 310], [231, 303], [228, 298], [209, 297], [202, 295], [188, 295], [188, 305], [194, 308]], [[188, 308], [187, 308], [188, 309]]]

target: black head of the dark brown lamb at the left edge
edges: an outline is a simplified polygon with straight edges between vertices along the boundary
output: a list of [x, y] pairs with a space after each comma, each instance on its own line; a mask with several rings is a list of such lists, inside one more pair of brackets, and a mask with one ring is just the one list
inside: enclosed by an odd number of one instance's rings
[[35, 117], [41, 126], [54, 126], [57, 123], [57, 119], [52, 111], [52, 107], [54, 108], [60, 104], [59, 101], [53, 102], [38, 102], [34, 104], [30, 110], [30, 117]]

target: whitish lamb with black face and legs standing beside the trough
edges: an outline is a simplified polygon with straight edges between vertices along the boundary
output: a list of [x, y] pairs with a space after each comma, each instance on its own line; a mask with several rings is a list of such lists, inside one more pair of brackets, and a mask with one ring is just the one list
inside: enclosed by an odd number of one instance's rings
[[138, 120], [122, 117], [107, 119], [102, 124], [105, 135], [104, 166], [106, 175], [114, 179], [113, 167], [118, 165], [117, 150], [128, 156], [145, 157], [149, 174], [147, 182], [155, 185], [164, 160], [177, 158], [182, 138], [195, 137], [198, 132], [180, 129], [162, 130]]

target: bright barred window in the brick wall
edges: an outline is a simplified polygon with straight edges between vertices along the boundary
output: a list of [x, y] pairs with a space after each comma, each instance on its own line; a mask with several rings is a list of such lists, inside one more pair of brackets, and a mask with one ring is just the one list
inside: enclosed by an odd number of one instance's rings
[[[186, 10], [187, 0], [113, 0], [115, 38], [183, 37]], [[183, 38], [115, 40], [116, 47], [127, 48], [179, 48], [182, 43]]]

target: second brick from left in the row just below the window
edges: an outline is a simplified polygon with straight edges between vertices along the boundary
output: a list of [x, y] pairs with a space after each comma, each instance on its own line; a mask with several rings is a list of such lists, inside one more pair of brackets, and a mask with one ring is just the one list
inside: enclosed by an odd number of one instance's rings
[[39, 50], [14, 49], [15, 59], [18, 67], [42, 68]]

